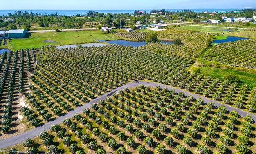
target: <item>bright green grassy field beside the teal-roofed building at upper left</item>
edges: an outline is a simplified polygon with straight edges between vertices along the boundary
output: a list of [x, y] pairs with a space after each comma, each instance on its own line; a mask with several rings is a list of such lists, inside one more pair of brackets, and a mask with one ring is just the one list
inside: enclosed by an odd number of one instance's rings
[[[103, 34], [101, 31], [64, 31], [64, 32], [45, 32], [28, 33], [26, 38], [11, 39], [7, 45], [11, 49], [35, 48], [47, 44], [52, 45], [70, 45], [97, 42], [97, 40], [115, 40], [116, 36], [112, 34]], [[44, 42], [45, 40], [54, 41]]]

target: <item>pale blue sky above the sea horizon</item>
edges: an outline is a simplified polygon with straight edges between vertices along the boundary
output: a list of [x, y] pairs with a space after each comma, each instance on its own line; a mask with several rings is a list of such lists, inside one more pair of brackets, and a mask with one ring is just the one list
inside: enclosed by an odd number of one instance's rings
[[[222, 9], [256, 7], [256, 0], [10, 0], [5, 10]], [[3, 9], [3, 8], [1, 8]]]

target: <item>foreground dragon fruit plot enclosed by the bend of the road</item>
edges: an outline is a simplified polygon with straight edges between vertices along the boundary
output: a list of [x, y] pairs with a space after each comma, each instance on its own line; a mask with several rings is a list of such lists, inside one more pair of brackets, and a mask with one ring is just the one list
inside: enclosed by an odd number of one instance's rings
[[61, 153], [255, 153], [255, 127], [224, 106], [139, 87], [112, 94], [11, 151]]

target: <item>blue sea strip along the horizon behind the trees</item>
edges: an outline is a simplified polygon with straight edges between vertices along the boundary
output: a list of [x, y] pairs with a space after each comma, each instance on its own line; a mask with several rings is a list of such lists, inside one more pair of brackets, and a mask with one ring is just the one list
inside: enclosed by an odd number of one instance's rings
[[[224, 9], [189, 9], [194, 11], [195, 13], [200, 13], [200, 12], [226, 12], [226, 11], [236, 11], [236, 10], [241, 10], [241, 9], [255, 9], [255, 8], [224, 8]], [[166, 9], [166, 11], [182, 11], [184, 9]], [[188, 9], [187, 9], [188, 10]], [[74, 16], [77, 14], [81, 14], [84, 15], [86, 14], [88, 11], [95, 11], [95, 12], [99, 12], [99, 13], [133, 13], [134, 10], [0, 10], [0, 16], [3, 15], [8, 15], [8, 13], [14, 13], [16, 11], [27, 11], [29, 13], [33, 12], [33, 13], [38, 13], [38, 14], [55, 14], [57, 13], [58, 15], [66, 15], [66, 16]], [[146, 11], [146, 13], [150, 13], [151, 10], [139, 10], [139, 11]]]

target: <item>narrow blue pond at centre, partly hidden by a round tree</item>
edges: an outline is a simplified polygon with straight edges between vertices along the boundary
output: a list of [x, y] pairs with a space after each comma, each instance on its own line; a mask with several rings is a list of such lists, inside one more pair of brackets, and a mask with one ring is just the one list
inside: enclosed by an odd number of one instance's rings
[[[145, 41], [130, 41], [130, 40], [97, 40], [100, 42], [106, 42], [106, 43], [110, 43], [110, 44], [117, 44], [117, 45], [124, 45], [124, 46], [132, 46], [132, 47], [139, 47], [139, 46], [143, 46], [146, 45]], [[166, 44], [173, 44], [173, 42], [167, 42], [167, 41], [161, 41], [161, 43], [166, 43]]]

